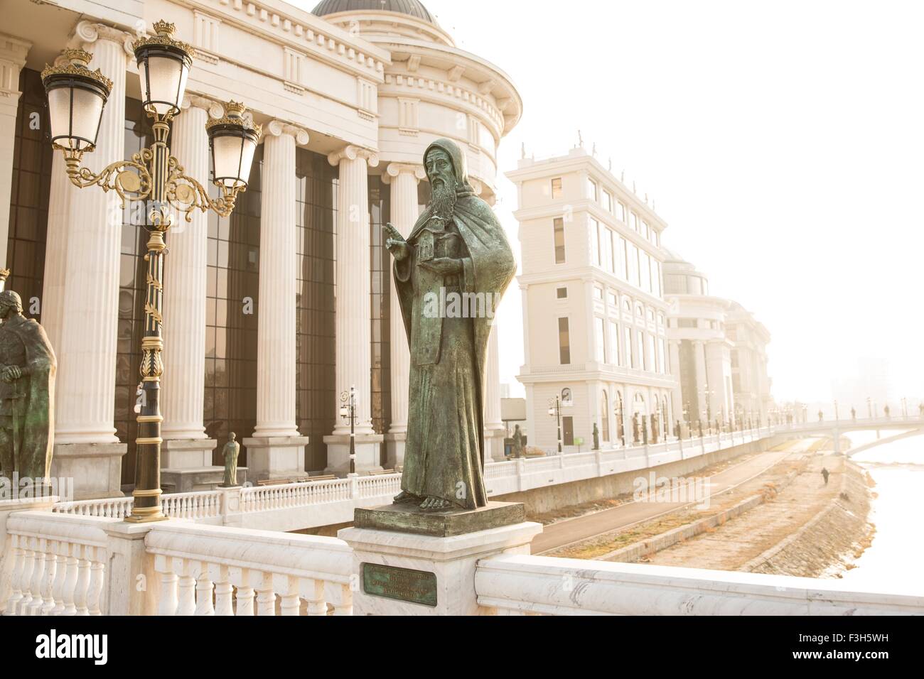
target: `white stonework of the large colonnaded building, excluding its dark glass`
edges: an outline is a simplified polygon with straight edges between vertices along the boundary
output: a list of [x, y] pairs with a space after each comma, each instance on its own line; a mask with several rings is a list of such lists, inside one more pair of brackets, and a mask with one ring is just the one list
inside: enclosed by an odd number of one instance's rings
[[[81, 46], [115, 81], [96, 152], [84, 164], [98, 171], [126, 156], [125, 97], [139, 97], [130, 43], [153, 21], [176, 24], [176, 38], [197, 58], [184, 111], [176, 118], [172, 151], [190, 175], [209, 184], [203, 126], [229, 99], [249, 107], [264, 129], [262, 154], [260, 304], [253, 430], [237, 431], [248, 449], [250, 479], [305, 472], [306, 432], [299, 430], [294, 361], [297, 259], [294, 231], [298, 150], [325, 157], [337, 170], [335, 216], [335, 384], [322, 406], [335, 412], [342, 392], [359, 394], [359, 470], [400, 465], [407, 423], [407, 340], [391, 324], [388, 363], [391, 408], [387, 431], [371, 424], [369, 183], [378, 176], [390, 191], [391, 221], [407, 232], [417, 218], [421, 156], [433, 139], [455, 139], [468, 153], [472, 185], [494, 200], [496, 152], [517, 124], [522, 103], [510, 79], [477, 55], [456, 48], [419, 3], [324, 2], [315, 14], [282, 0], [8, 0], [0, 28], [0, 202], [11, 200], [10, 176], [21, 69], [39, 71], [66, 46]], [[376, 4], [377, 7], [379, 4]], [[392, 11], [394, 9], [394, 11]], [[334, 14], [329, 14], [334, 11]], [[41, 321], [57, 352], [55, 470], [78, 478], [82, 496], [119, 489], [118, 469], [130, 437], [116, 436], [116, 323], [119, 318], [119, 229], [116, 198], [99, 188], [70, 185], [58, 158], [51, 175], [41, 280]], [[176, 490], [214, 479], [211, 438], [203, 423], [206, 360], [205, 274], [207, 219], [171, 232], [165, 267], [162, 466], [177, 472]], [[0, 210], [0, 265], [14, 237]], [[15, 261], [9, 287], [16, 289]], [[39, 285], [39, 284], [36, 284]], [[234, 300], [231, 300], [234, 301]], [[229, 310], [228, 313], [231, 311]], [[210, 311], [211, 313], [211, 311]], [[209, 321], [214, 322], [214, 321]], [[121, 326], [119, 326], [121, 327]], [[387, 333], [387, 331], [386, 331]], [[496, 338], [492, 343], [496, 352]], [[254, 357], [248, 357], [254, 358]], [[486, 430], [501, 430], [497, 361], [488, 376]], [[137, 366], [131, 370], [137, 374]], [[493, 403], [497, 401], [497, 403]], [[495, 414], [496, 413], [496, 417]], [[496, 422], [494, 420], [496, 419]], [[333, 420], [332, 420], [333, 421]], [[336, 418], [321, 432], [326, 467], [346, 469], [348, 426]], [[319, 443], [321, 436], [315, 436]], [[387, 437], [387, 453], [385, 438]], [[120, 438], [123, 440], [120, 441]], [[128, 438], [127, 442], [124, 440]], [[217, 440], [216, 440], [217, 439]], [[387, 461], [386, 461], [387, 455]], [[69, 465], [69, 467], [68, 467]], [[169, 476], [166, 474], [165, 478]], [[204, 476], [203, 476], [204, 475]], [[123, 474], [124, 476], [124, 474]], [[182, 480], [189, 477], [191, 480]], [[204, 479], [204, 480], [203, 480]], [[122, 479], [123, 484], [130, 479]], [[181, 487], [186, 484], [186, 487]], [[191, 484], [191, 485], [190, 485]]]

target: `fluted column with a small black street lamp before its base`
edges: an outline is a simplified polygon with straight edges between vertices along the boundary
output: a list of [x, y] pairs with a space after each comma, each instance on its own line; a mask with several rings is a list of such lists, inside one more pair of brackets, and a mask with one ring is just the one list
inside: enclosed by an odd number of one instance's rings
[[[369, 167], [376, 167], [375, 153], [347, 146], [327, 160], [339, 165], [336, 237], [336, 396], [356, 387], [356, 469], [381, 469], [381, 434], [372, 430], [371, 418], [371, 273], [369, 233]], [[339, 415], [327, 443], [327, 470], [349, 471], [350, 423]]]

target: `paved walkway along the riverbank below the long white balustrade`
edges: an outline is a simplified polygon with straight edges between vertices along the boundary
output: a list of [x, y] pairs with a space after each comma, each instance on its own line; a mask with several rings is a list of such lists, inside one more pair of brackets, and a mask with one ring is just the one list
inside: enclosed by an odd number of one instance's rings
[[[754, 455], [746, 462], [729, 467], [713, 474], [710, 479], [712, 495], [727, 491], [780, 462], [787, 455], [805, 450], [814, 440], [798, 441], [782, 452], [767, 452]], [[649, 469], [639, 469], [639, 475], [648, 475]], [[694, 474], [689, 475], [695, 476]], [[576, 516], [543, 527], [542, 532], [532, 540], [533, 554], [550, 552], [581, 540], [588, 540], [603, 533], [625, 528], [640, 521], [648, 521], [656, 516], [668, 514], [691, 503], [630, 502], [613, 509], [604, 509], [593, 514]]]

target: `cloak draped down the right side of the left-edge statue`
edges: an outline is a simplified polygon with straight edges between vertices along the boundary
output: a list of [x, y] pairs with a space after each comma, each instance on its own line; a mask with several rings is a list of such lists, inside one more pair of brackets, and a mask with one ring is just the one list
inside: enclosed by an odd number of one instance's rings
[[48, 335], [34, 319], [4, 321], [0, 333], [13, 333], [26, 349], [26, 368], [18, 382], [27, 382], [24, 403], [16, 407], [20, 445], [16, 467], [20, 478], [45, 478], [51, 468], [55, 443], [55, 372], [57, 359]]

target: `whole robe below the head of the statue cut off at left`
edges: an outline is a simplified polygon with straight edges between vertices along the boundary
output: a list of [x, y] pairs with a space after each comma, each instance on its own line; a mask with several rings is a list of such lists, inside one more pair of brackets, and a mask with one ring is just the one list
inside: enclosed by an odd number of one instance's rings
[[[11, 315], [0, 323], [0, 364], [19, 353], [25, 364], [22, 376], [5, 383], [0, 412], [18, 434], [15, 465], [20, 478], [45, 479], [51, 470], [55, 444], [55, 350], [34, 319]], [[18, 361], [17, 361], [18, 362]], [[10, 442], [12, 445], [13, 442]]]

